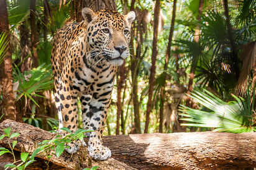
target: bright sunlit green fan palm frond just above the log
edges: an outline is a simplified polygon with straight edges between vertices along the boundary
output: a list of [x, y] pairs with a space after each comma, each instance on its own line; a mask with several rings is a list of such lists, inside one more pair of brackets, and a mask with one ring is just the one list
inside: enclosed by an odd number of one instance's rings
[[[254, 93], [253, 93], [254, 94]], [[223, 101], [208, 90], [195, 90], [191, 98], [202, 108], [192, 109], [180, 106], [181, 125], [190, 127], [206, 127], [214, 132], [243, 133], [254, 132], [255, 95], [247, 93], [245, 98], [234, 97], [234, 101]]]

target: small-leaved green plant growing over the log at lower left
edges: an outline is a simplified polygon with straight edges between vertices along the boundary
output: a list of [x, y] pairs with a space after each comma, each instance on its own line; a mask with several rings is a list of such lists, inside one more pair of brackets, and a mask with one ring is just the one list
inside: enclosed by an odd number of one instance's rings
[[[27, 153], [27, 152], [22, 152], [21, 153], [21, 159], [17, 160], [17, 158], [14, 155], [14, 147], [17, 145], [17, 137], [19, 137], [19, 133], [14, 132], [11, 133], [11, 127], [8, 127], [4, 129], [4, 134], [0, 136], [0, 140], [3, 138], [8, 138], [8, 145], [9, 149], [1, 147], [0, 148], [0, 156], [4, 155], [4, 153], [11, 153], [13, 156], [14, 162], [6, 164], [4, 166], [5, 169], [8, 168], [15, 168], [18, 170], [23, 170], [29, 166], [29, 164], [32, 164], [35, 162], [35, 156], [40, 155], [41, 153], [47, 154], [48, 159], [52, 157], [50, 155], [51, 151], [53, 151], [53, 154], [56, 155], [57, 157], [60, 157], [62, 155], [63, 151], [65, 148], [69, 148], [66, 143], [71, 143], [75, 140], [83, 140], [84, 134], [87, 132], [92, 132], [92, 130], [85, 130], [85, 129], [78, 129], [74, 134], [71, 134], [70, 129], [63, 127], [62, 130], [65, 130], [66, 132], [70, 133], [66, 135], [65, 137], [61, 137], [60, 135], [57, 135], [55, 138], [52, 140], [43, 140], [43, 142], [39, 143], [38, 147], [35, 148], [33, 153]], [[56, 132], [56, 131], [55, 131]], [[48, 165], [48, 164], [47, 164]], [[91, 168], [92, 170], [97, 169], [97, 166], [94, 166]], [[85, 168], [86, 170], [90, 168]]]

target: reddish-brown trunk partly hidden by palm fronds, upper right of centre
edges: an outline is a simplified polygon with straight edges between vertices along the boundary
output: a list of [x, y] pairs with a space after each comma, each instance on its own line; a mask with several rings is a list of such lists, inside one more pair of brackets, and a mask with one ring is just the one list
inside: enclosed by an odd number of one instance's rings
[[[198, 21], [201, 21], [201, 14], [203, 11], [203, 7], [204, 7], [204, 0], [199, 0], [199, 8], [198, 8]], [[196, 43], [199, 42], [199, 38], [200, 38], [200, 27], [199, 25], [196, 26], [195, 30], [194, 30], [194, 41]], [[188, 80], [188, 92], [187, 94], [190, 95], [191, 91], [193, 90], [193, 81], [194, 81], [194, 69], [196, 66], [194, 66], [196, 64], [191, 64], [191, 69], [190, 69], [190, 79]], [[187, 97], [186, 99], [186, 106], [192, 106], [192, 100], [190, 97]]]

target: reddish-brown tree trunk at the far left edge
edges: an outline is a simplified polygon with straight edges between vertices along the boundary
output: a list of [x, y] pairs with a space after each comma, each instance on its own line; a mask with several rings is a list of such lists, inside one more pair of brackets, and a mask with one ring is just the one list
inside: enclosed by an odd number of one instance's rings
[[6, 33], [8, 41], [6, 55], [4, 57], [3, 67], [1, 70], [1, 85], [2, 85], [2, 113], [6, 119], [16, 120], [17, 111], [15, 106], [15, 97], [13, 93], [12, 83], [12, 51], [9, 43], [9, 21], [7, 14], [6, 0], [0, 0], [0, 33]]

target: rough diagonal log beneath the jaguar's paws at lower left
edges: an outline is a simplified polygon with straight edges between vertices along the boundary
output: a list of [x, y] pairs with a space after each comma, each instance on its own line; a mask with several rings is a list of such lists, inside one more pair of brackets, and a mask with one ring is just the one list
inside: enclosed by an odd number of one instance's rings
[[[47, 132], [43, 129], [39, 129], [29, 124], [22, 124], [16, 121], [11, 121], [7, 119], [6, 121], [0, 124], [0, 134], [4, 134], [3, 129], [11, 127], [12, 133], [18, 132], [21, 134], [17, 139], [18, 143], [14, 150], [29, 152], [32, 153], [39, 142], [43, 140], [49, 140], [55, 137], [55, 134]], [[4, 138], [0, 140], [0, 145], [2, 147], [8, 147], [8, 139]], [[67, 169], [83, 169], [83, 168], [91, 168], [92, 166], [99, 166], [100, 169], [134, 169], [130, 166], [127, 166], [124, 163], [117, 161], [116, 159], [110, 158], [107, 161], [94, 161], [90, 159], [87, 153], [87, 149], [84, 147], [80, 148], [80, 152], [75, 155], [70, 156], [70, 154], [64, 153], [57, 158], [57, 156], [51, 154], [50, 162], [57, 164], [58, 166], [65, 167]], [[36, 156], [37, 158], [45, 159], [48, 161], [47, 155], [45, 153], [39, 154]]]

